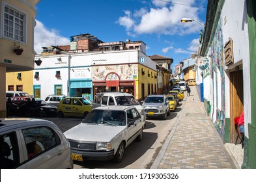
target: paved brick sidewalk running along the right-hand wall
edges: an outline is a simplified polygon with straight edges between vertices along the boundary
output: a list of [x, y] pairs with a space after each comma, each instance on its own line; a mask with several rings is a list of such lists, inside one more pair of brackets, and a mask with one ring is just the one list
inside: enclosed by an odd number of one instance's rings
[[195, 86], [182, 101], [184, 108], [167, 136], [152, 169], [234, 169], [238, 168], [206, 115]]

